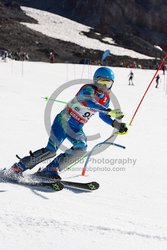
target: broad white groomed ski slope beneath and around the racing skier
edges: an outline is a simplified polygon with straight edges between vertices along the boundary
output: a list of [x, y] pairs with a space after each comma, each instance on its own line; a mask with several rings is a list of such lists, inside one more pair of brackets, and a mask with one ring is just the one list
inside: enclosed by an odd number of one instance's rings
[[[45, 146], [46, 102], [41, 97], [50, 96], [66, 81], [91, 79], [96, 68], [0, 63], [2, 168], [16, 161], [16, 153], [24, 156], [30, 149]], [[113, 92], [128, 123], [154, 71], [135, 69], [135, 86], [128, 86], [130, 70], [113, 70], [116, 74]], [[0, 183], [1, 250], [167, 249], [167, 96], [165, 79], [160, 76], [160, 87], [155, 89], [153, 84], [128, 135], [116, 139], [126, 150], [111, 146], [93, 156], [86, 177], [79, 176], [83, 164], [61, 174], [69, 180], [96, 180], [99, 190], [84, 193], [66, 189], [54, 193]], [[58, 99], [70, 100], [79, 87], [68, 88]], [[51, 120], [63, 107], [54, 104]], [[97, 132], [100, 138], [90, 141], [89, 149], [112, 133], [112, 128], [100, 121], [98, 115], [85, 126], [87, 135]], [[67, 142], [66, 145], [69, 146]]]

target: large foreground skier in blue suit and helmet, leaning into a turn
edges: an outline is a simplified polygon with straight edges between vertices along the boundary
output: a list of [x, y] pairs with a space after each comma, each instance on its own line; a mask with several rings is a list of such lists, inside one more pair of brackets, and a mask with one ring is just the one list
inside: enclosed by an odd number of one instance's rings
[[30, 151], [30, 155], [20, 158], [20, 161], [15, 163], [9, 172], [20, 175], [38, 163], [55, 157], [62, 142], [68, 139], [73, 146], [59, 154], [44, 169], [39, 169], [36, 173], [42, 177], [61, 179], [59, 171], [86, 154], [87, 139], [83, 132], [83, 125], [96, 112], [99, 112], [99, 117], [104, 122], [118, 129], [119, 134], [126, 134], [128, 131], [126, 124], [117, 121], [117, 119], [123, 118], [123, 112], [120, 109], [111, 110], [109, 108], [109, 94], [113, 83], [113, 71], [107, 67], [98, 68], [94, 73], [93, 83], [81, 87], [76, 96], [56, 116], [47, 146], [35, 152]]

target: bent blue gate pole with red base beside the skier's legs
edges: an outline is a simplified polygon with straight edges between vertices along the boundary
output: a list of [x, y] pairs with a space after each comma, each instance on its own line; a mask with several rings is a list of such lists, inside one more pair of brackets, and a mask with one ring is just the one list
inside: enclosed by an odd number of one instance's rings
[[112, 137], [114, 137], [115, 135], [116, 135], [116, 133], [112, 134], [108, 139], [106, 139], [106, 140], [103, 141], [103, 142], [100, 142], [100, 143], [96, 144], [96, 145], [92, 148], [92, 150], [91, 150], [91, 151], [88, 153], [88, 155], [87, 155], [87, 158], [86, 158], [86, 161], [85, 161], [85, 165], [84, 165], [84, 167], [83, 167], [83, 169], [82, 169], [82, 173], [81, 173], [82, 176], [85, 175], [85, 172], [86, 172], [86, 170], [87, 170], [87, 166], [88, 166], [89, 159], [90, 159], [92, 153], [94, 152], [94, 150], [95, 150], [96, 148], [101, 147], [101, 146], [104, 145], [104, 144], [113, 145], [113, 146], [116, 146], [116, 147], [119, 147], [119, 148], [123, 148], [123, 149], [126, 148], [125, 146], [122, 146], [122, 145], [120, 145], [120, 144], [113, 143], [113, 142], [109, 142], [109, 140], [110, 140]]

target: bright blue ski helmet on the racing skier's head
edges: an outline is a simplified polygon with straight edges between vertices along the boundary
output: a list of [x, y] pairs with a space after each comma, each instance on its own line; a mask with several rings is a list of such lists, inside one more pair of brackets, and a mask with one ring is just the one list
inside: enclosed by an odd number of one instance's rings
[[107, 67], [98, 68], [94, 73], [93, 81], [97, 82], [97, 79], [99, 77], [106, 78], [106, 79], [109, 79], [111, 81], [114, 81], [114, 78], [115, 78], [114, 72], [110, 68], [107, 68]]

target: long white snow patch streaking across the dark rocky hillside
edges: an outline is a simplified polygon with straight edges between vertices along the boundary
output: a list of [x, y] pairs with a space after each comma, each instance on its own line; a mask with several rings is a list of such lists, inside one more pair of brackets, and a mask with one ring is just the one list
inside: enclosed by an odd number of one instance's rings
[[[23, 23], [27, 27], [39, 31], [44, 35], [72, 42], [83, 48], [94, 50], [110, 50], [111, 54], [119, 56], [130, 56], [139, 59], [153, 59], [136, 51], [119, 47], [111, 37], [105, 37], [104, 43], [93, 38], [87, 37], [83, 32], [89, 32], [91, 27], [72, 21], [68, 18], [52, 14], [47, 11], [22, 7], [28, 16], [38, 21], [38, 24]], [[107, 44], [107, 43], [108, 44]]]

